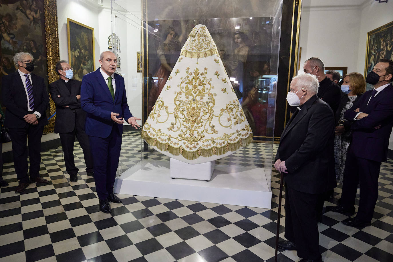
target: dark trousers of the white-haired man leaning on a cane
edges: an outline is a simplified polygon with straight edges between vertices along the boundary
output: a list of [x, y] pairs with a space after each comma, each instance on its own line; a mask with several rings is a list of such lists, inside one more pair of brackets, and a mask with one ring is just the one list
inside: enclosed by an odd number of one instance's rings
[[296, 244], [298, 257], [320, 259], [317, 207], [321, 194], [285, 185], [285, 238]]

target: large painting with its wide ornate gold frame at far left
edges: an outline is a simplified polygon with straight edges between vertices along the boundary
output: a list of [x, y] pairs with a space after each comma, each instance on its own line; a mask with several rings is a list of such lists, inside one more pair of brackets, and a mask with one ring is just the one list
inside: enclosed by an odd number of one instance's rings
[[[15, 73], [13, 56], [28, 52], [36, 61], [34, 71], [46, 86], [58, 79], [55, 72], [59, 60], [59, 34], [56, 0], [2, 0], [0, 9], [0, 86], [3, 75]], [[1, 94], [1, 92], [0, 92]], [[44, 134], [53, 132], [55, 104], [47, 110], [49, 124]]]

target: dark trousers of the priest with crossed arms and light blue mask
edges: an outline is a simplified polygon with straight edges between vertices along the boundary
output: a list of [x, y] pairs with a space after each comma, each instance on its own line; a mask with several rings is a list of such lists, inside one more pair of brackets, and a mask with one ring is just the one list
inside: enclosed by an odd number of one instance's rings
[[79, 144], [83, 150], [84, 163], [86, 164], [86, 172], [93, 172], [93, 158], [90, 152], [89, 136], [84, 132], [83, 126], [79, 125], [79, 122], [75, 122], [75, 128], [69, 133], [60, 133], [61, 148], [64, 153], [64, 163], [66, 164], [67, 173], [72, 176], [76, 175], [79, 171], [75, 167], [73, 148], [75, 142], [75, 136], [77, 137]]

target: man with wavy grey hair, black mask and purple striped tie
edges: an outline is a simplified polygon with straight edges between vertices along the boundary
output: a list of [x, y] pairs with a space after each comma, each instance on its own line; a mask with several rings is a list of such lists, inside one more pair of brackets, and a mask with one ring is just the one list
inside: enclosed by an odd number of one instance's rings
[[[49, 183], [40, 178], [39, 174], [41, 137], [44, 126], [48, 123], [45, 111], [49, 106], [49, 96], [44, 79], [31, 73], [34, 70], [33, 56], [29, 53], [17, 53], [13, 59], [19, 69], [3, 77], [2, 94], [7, 108], [4, 126], [9, 128], [14, 167], [19, 180], [15, 193], [20, 193], [29, 183]], [[27, 174], [28, 137], [30, 179]]]

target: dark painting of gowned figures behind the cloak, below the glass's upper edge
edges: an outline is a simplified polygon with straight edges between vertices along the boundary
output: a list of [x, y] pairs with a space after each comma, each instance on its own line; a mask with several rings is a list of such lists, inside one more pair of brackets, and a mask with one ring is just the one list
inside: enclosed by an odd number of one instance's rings
[[[208, 28], [254, 137], [266, 136], [268, 107], [274, 107], [276, 70], [270, 70], [272, 17], [211, 18], [198, 20], [151, 20], [147, 39], [147, 68], [143, 100], [144, 115], [150, 114], [188, 33], [197, 24]], [[146, 93], [146, 92], [145, 92]], [[145, 119], [146, 119], [145, 118]]]

